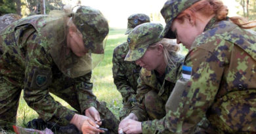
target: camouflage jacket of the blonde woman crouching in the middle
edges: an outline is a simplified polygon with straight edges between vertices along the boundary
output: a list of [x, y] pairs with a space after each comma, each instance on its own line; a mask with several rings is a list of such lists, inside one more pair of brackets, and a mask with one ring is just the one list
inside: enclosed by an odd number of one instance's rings
[[[172, 54], [171, 56], [174, 57], [175, 55]], [[136, 95], [137, 101], [133, 103], [131, 112], [133, 112], [138, 120], [142, 122], [142, 133], [153, 133], [154, 129], [157, 127], [155, 124], [150, 124], [150, 122], [146, 121], [148, 120], [148, 114], [144, 105], [144, 95], [150, 90], [156, 90], [159, 97], [161, 97], [163, 101], [167, 101], [169, 95], [173, 91], [176, 81], [179, 79], [184, 56], [177, 54], [174, 59], [175, 61], [173, 61], [173, 63], [175, 63], [175, 65], [167, 66], [165, 69], [163, 84], [158, 81], [155, 71], [147, 71], [144, 68], [140, 71]]]

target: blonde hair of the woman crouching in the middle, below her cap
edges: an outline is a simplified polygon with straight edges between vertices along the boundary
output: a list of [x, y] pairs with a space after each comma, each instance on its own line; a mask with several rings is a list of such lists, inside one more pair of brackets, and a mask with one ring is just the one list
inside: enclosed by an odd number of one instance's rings
[[[149, 48], [156, 48], [158, 44], [163, 45], [163, 60], [165, 61], [167, 66], [175, 65], [173, 61], [173, 54], [176, 54], [180, 50], [179, 44], [177, 44], [172, 39], [163, 38], [161, 41], [155, 42], [154, 44], [150, 45]], [[176, 66], [176, 65], [175, 65]]]

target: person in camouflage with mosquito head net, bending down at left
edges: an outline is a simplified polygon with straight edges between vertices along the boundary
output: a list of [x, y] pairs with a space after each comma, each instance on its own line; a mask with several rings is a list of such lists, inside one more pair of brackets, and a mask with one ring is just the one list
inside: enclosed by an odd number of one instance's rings
[[[104, 132], [96, 126], [105, 124], [117, 133], [119, 121], [96, 101], [90, 82], [93, 54], [104, 54], [107, 20], [91, 7], [54, 14], [23, 18], [0, 33], [0, 126], [11, 129], [15, 124], [24, 89], [26, 103], [45, 122], [74, 124], [83, 133]], [[49, 92], [79, 114], [54, 101]]]

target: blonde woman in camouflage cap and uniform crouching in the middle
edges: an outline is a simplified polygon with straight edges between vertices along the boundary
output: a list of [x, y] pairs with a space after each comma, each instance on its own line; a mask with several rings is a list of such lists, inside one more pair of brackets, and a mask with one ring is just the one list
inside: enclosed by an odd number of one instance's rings
[[[129, 116], [121, 121], [119, 129], [125, 133], [150, 133], [156, 128], [151, 121], [165, 116], [165, 103], [179, 76], [184, 57], [177, 54], [179, 45], [170, 39], [161, 39], [161, 24], [140, 24], [129, 33], [129, 52], [126, 61], [135, 61], [142, 67], [138, 79], [136, 99]], [[152, 129], [148, 129], [148, 127]]]

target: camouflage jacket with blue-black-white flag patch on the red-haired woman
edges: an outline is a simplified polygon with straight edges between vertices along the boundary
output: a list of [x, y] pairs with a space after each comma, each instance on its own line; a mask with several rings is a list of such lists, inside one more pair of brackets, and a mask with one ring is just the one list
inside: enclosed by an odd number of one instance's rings
[[212, 19], [184, 65], [190, 78], [177, 81], [156, 131], [190, 133], [204, 114], [219, 133], [256, 131], [256, 35]]

